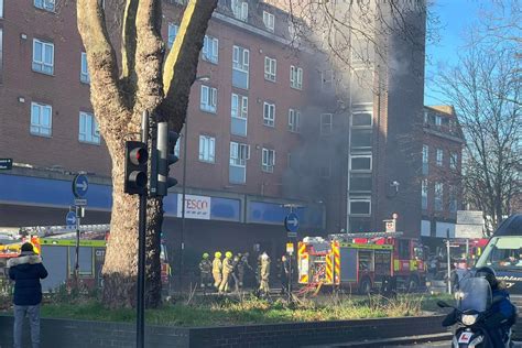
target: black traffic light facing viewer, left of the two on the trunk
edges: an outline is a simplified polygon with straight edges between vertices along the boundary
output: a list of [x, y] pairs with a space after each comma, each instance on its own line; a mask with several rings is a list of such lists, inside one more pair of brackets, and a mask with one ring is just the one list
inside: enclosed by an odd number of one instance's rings
[[146, 194], [146, 144], [140, 141], [126, 141], [126, 178], [124, 193], [130, 195]]

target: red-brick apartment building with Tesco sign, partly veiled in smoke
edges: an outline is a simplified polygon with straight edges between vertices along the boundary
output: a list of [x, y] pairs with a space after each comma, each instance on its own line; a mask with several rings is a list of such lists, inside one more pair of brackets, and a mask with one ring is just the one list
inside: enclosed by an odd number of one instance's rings
[[[167, 46], [182, 2], [164, 1]], [[15, 162], [0, 173], [0, 226], [64, 225], [78, 171], [90, 181], [84, 221], [107, 224], [110, 159], [89, 102], [76, 9], [69, 3], [56, 11], [50, 0], [0, 4], [0, 157]], [[301, 206], [302, 235], [382, 230], [382, 220], [396, 213], [399, 230], [421, 236], [422, 226], [428, 236], [431, 221], [429, 236], [438, 236], [436, 220], [454, 216], [433, 204], [422, 208], [422, 144], [423, 134], [428, 145], [448, 139], [414, 127], [423, 115], [424, 36], [420, 48], [381, 37], [387, 59], [402, 68], [373, 66], [373, 84], [383, 86], [376, 91], [350, 74], [339, 84], [346, 72], [317, 52], [292, 47], [287, 18], [259, 0], [219, 2], [198, 66], [207, 78], [193, 86], [187, 134], [176, 149], [181, 160], [171, 170], [180, 184], [165, 198], [170, 246], [180, 246], [185, 160], [187, 199], [207, 206], [186, 211], [187, 252], [259, 243], [281, 253], [286, 204]], [[424, 17], [412, 21], [424, 33]], [[339, 93], [339, 85], [348, 87]], [[197, 213], [205, 219], [194, 218]]]

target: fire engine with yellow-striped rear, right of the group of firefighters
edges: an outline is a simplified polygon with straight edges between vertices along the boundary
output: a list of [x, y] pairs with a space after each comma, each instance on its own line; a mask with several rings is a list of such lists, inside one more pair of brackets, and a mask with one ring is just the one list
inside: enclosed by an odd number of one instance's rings
[[298, 282], [320, 289], [337, 285], [350, 292], [369, 293], [384, 280], [415, 291], [425, 284], [424, 249], [402, 232], [329, 235], [306, 237], [298, 242]]

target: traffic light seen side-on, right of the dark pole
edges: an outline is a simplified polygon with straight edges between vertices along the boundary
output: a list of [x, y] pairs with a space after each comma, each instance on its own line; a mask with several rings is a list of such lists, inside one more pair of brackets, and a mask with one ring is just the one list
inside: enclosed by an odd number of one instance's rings
[[174, 148], [180, 135], [176, 132], [168, 131], [167, 122], [157, 123], [157, 196], [166, 196], [168, 187], [175, 186], [177, 180], [168, 177], [168, 166], [178, 161], [174, 154]]

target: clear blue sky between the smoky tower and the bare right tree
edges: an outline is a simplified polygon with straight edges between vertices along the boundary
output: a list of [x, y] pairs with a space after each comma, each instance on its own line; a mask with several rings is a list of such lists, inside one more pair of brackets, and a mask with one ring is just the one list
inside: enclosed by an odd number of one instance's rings
[[491, 0], [434, 0], [433, 12], [438, 15], [438, 40], [426, 42], [426, 81], [424, 105], [441, 105], [444, 97], [431, 83], [438, 68], [457, 63], [457, 54], [466, 44], [466, 28], [480, 21], [480, 13], [491, 7]]

